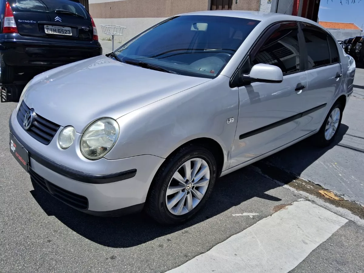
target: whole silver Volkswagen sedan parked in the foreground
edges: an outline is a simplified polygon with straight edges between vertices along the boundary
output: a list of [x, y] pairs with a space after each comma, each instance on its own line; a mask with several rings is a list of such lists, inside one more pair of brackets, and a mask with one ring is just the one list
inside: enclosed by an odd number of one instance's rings
[[355, 74], [339, 48], [297, 16], [174, 16], [33, 78], [9, 120], [10, 150], [75, 209], [180, 223], [218, 177], [310, 136], [334, 141]]

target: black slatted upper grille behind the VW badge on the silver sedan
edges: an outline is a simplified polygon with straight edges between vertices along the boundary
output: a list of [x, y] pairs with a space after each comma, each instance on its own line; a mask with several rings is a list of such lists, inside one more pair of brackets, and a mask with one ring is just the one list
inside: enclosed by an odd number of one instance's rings
[[[28, 111], [29, 107], [27, 106], [27, 104], [25, 104], [23, 100], [16, 115], [16, 118], [21, 127], [23, 127], [24, 116], [25, 114], [27, 114]], [[27, 132], [37, 141], [43, 143], [44, 145], [48, 145], [52, 141], [59, 127], [60, 126], [58, 124], [51, 122], [50, 120], [45, 119], [34, 113], [33, 123], [27, 130]]]

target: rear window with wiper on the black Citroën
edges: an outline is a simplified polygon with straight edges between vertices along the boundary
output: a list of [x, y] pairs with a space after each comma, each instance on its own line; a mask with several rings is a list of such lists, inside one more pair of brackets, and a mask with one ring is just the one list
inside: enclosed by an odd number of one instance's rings
[[12, 8], [21, 12], [54, 12], [56, 9], [63, 9], [87, 17], [84, 7], [80, 3], [69, 0], [15, 0], [11, 2]]

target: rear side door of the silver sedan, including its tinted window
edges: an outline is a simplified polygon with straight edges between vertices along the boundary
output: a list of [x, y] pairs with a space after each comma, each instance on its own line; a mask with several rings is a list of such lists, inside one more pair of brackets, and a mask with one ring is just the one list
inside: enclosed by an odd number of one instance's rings
[[300, 96], [305, 111], [309, 114], [298, 120], [300, 135], [305, 135], [321, 126], [331, 101], [339, 91], [342, 66], [336, 41], [324, 30], [304, 24], [307, 87]]

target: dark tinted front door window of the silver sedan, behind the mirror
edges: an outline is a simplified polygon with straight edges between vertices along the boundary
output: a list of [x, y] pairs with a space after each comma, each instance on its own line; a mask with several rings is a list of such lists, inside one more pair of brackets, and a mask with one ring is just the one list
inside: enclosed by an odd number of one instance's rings
[[282, 28], [273, 33], [252, 60], [252, 65], [258, 63], [278, 66], [283, 74], [300, 71], [298, 29]]

